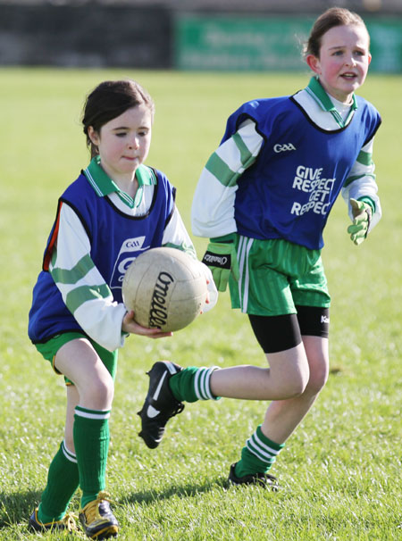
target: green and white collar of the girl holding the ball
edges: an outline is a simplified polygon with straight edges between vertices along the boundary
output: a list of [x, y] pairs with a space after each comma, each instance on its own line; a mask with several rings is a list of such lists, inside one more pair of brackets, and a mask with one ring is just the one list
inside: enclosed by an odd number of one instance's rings
[[147, 165], [139, 165], [136, 171], [136, 179], [138, 180], [138, 190], [134, 197], [130, 197], [126, 192], [105, 173], [100, 164], [100, 156], [95, 156], [89, 163], [87, 169], [84, 170], [84, 175], [88, 179], [89, 184], [96, 192], [96, 196], [105, 197], [115, 192], [124, 204], [130, 208], [138, 207], [142, 201], [144, 186], [152, 186], [156, 184], [154, 171]]

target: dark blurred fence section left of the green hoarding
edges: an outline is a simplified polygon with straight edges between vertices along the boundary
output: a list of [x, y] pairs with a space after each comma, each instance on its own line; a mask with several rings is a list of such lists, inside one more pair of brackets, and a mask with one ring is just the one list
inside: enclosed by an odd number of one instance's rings
[[164, 6], [0, 4], [0, 64], [172, 66]]

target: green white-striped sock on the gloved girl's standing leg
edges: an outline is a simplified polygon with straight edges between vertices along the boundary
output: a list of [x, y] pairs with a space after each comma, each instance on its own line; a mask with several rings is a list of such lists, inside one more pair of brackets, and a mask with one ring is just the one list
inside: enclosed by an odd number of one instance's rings
[[284, 446], [285, 444], [276, 444], [269, 437], [264, 436], [261, 425], [259, 425], [241, 450], [241, 459], [235, 468], [236, 476], [266, 473], [271, 469]]

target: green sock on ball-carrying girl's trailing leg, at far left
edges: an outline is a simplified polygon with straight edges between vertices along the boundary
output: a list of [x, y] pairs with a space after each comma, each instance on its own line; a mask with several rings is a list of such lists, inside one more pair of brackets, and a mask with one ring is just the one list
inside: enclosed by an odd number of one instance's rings
[[76, 456], [62, 442], [49, 466], [46, 488], [39, 504], [38, 519], [44, 524], [62, 520], [78, 487], [79, 470]]

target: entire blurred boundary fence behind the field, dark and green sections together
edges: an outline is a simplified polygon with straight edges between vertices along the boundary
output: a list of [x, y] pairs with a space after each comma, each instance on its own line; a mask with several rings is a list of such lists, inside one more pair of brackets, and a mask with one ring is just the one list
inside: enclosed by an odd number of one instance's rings
[[402, 0], [0, 0], [0, 65], [297, 70], [331, 5], [364, 17], [373, 71], [402, 72]]

